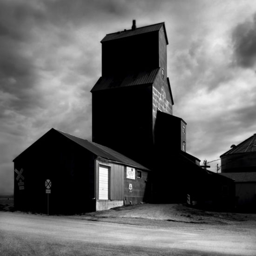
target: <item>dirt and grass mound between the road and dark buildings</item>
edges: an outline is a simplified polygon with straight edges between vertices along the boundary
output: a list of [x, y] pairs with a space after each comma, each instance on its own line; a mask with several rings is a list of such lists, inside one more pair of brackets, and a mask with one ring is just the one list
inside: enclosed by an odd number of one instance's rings
[[255, 213], [213, 212], [195, 209], [185, 204], [140, 204], [117, 207], [109, 210], [75, 216], [85, 220], [124, 222], [125, 219], [140, 219], [145, 222], [168, 221], [202, 224], [255, 224]]

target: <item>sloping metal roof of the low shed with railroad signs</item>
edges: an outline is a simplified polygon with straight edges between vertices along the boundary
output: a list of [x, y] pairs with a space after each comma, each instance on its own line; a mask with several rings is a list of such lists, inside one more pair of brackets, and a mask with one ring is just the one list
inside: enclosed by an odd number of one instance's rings
[[125, 163], [129, 166], [134, 166], [134, 167], [137, 167], [137, 168], [140, 168], [140, 169], [149, 170], [148, 168], [144, 167], [143, 165], [133, 161], [132, 159], [126, 157], [125, 155], [122, 155], [122, 154], [118, 153], [117, 151], [115, 151], [111, 148], [102, 146], [102, 145], [94, 143], [92, 141], [81, 139], [79, 137], [67, 134], [65, 132], [62, 132], [62, 131], [59, 131], [59, 130], [56, 130], [56, 129], [54, 129], [54, 130], [61, 133], [64, 136], [66, 136], [68, 139], [74, 141], [75, 143], [79, 144], [83, 148], [86, 148], [87, 150], [89, 150], [90, 152], [94, 153], [97, 156], [100, 156], [102, 158], [112, 160], [112, 161], [115, 161], [115, 162]]

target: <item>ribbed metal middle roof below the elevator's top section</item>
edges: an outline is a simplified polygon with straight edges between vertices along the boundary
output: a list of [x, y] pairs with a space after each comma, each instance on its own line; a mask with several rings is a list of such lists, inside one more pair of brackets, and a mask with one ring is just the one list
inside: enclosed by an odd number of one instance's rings
[[160, 67], [157, 67], [152, 70], [141, 71], [137, 74], [126, 74], [123, 77], [102, 76], [91, 89], [91, 92], [117, 87], [119, 88], [142, 84], [153, 84], [159, 70]]

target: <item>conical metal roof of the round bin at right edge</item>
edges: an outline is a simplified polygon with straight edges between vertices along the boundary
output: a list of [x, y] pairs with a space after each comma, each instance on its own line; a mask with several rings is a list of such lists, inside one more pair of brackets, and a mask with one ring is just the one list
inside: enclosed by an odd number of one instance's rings
[[222, 154], [220, 157], [225, 155], [232, 155], [238, 153], [251, 153], [256, 152], [256, 134], [252, 135], [245, 141], [241, 142], [234, 148], [229, 149], [226, 153]]

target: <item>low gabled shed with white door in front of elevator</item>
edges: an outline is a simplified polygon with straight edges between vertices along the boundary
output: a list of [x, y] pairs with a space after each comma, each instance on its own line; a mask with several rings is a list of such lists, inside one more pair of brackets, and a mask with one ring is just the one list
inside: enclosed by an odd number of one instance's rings
[[49, 214], [148, 200], [148, 168], [111, 148], [50, 129], [14, 160], [14, 207]]

